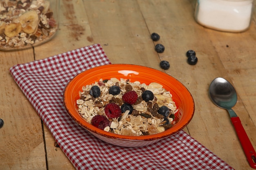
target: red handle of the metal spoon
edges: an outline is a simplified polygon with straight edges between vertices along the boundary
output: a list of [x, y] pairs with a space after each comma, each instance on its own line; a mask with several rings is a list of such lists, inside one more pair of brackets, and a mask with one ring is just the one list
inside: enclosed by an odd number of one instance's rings
[[231, 121], [236, 129], [236, 134], [240, 140], [240, 144], [243, 147], [247, 161], [252, 168], [256, 169], [256, 152], [252, 146], [252, 143], [247, 136], [245, 129], [243, 128], [239, 117], [231, 117]]

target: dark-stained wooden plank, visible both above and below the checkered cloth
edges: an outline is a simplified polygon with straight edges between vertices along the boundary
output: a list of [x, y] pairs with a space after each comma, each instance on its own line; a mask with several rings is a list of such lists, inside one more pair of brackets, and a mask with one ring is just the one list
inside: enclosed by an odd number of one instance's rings
[[[35, 48], [36, 60], [94, 44], [90, 38], [90, 26], [82, 0], [61, 0], [59, 22], [56, 36], [49, 42]], [[45, 125], [44, 133], [48, 169], [75, 169], [61, 148], [54, 146], [55, 140]]]

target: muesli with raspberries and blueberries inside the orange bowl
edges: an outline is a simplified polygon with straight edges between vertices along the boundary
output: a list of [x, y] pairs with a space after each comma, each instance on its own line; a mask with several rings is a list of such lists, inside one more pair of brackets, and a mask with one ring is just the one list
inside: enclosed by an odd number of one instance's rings
[[[171, 128], [178, 111], [172, 95], [161, 84], [100, 79], [83, 86], [76, 101], [90, 124], [119, 135], [151, 135]], [[153, 95], [153, 96], [152, 96]]]

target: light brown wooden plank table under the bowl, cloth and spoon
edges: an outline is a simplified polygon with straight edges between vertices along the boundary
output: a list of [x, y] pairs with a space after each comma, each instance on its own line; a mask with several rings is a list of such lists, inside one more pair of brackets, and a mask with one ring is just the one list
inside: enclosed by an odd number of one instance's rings
[[[196, 0], [61, 0], [56, 37], [34, 49], [0, 51], [1, 170], [72, 170], [74, 167], [14, 82], [9, 68], [91, 44], [101, 44], [112, 63], [149, 66], [166, 71], [191, 92], [195, 115], [184, 130], [236, 170], [249, 170], [246, 157], [226, 110], [208, 95], [216, 77], [236, 88], [234, 107], [256, 149], [256, 8], [243, 33], [204, 28], [194, 20]], [[255, 6], [255, 4], [254, 4]], [[256, 6], [255, 6], [256, 7]], [[156, 53], [151, 33], [158, 33], [164, 53]], [[186, 51], [198, 63], [187, 64]]]

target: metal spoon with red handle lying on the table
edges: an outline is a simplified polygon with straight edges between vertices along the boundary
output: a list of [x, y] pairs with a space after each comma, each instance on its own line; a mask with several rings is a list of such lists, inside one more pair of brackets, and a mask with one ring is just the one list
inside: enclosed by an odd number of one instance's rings
[[237, 101], [235, 88], [226, 79], [218, 77], [211, 82], [209, 94], [214, 104], [229, 112], [232, 124], [247, 157], [247, 161], [252, 168], [256, 169], [256, 152], [241, 124], [239, 117], [236, 115], [234, 110], [232, 110], [232, 107], [235, 106]]

